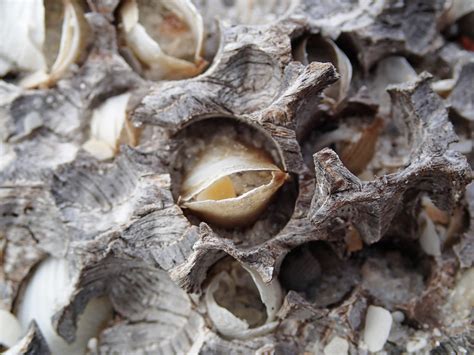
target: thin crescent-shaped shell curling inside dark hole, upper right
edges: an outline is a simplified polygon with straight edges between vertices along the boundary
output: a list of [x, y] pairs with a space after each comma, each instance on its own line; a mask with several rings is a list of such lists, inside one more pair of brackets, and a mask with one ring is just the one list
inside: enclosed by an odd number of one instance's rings
[[347, 97], [352, 80], [352, 64], [332, 40], [319, 35], [309, 36], [301, 41], [293, 54], [296, 60], [305, 65], [311, 62], [332, 63], [341, 77], [324, 90], [324, 94], [334, 106]]

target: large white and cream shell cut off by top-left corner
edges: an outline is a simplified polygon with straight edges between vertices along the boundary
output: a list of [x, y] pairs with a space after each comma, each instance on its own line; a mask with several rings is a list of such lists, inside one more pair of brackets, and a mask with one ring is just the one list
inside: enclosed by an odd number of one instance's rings
[[20, 74], [27, 88], [53, 84], [80, 58], [87, 31], [75, 0], [2, 1], [0, 76]]

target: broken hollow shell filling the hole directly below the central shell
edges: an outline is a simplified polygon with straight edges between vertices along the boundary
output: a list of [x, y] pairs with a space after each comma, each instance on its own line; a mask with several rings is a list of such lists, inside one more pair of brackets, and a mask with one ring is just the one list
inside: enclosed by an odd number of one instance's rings
[[248, 339], [271, 332], [283, 300], [278, 280], [269, 284], [260, 275], [237, 262], [222, 271], [206, 290], [206, 306], [217, 331], [223, 336]]

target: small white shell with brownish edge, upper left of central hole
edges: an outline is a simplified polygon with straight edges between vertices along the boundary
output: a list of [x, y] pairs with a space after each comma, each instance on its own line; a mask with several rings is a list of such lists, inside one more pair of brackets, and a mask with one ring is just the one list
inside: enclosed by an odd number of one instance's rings
[[129, 93], [113, 96], [93, 111], [90, 138], [83, 148], [97, 159], [114, 157], [120, 144], [138, 144], [140, 130], [128, 120], [129, 99]]

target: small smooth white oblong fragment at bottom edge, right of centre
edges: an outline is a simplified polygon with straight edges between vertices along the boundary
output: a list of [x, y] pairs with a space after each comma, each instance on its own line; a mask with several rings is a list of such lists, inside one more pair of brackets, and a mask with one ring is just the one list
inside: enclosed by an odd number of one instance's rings
[[392, 328], [392, 315], [385, 308], [369, 306], [365, 318], [364, 343], [369, 351], [380, 351]]

